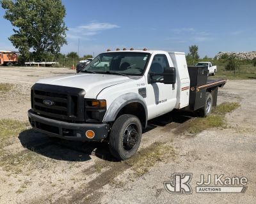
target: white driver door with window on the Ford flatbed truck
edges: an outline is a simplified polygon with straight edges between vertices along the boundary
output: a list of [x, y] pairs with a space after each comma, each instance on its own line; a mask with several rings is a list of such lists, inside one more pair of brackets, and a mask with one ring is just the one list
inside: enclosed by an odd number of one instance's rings
[[165, 54], [154, 55], [148, 71], [148, 97], [146, 98], [148, 119], [152, 119], [172, 111], [176, 104], [175, 85], [155, 82], [155, 80], [163, 80], [163, 76], [161, 75], [150, 77], [150, 73], [163, 73], [164, 68], [170, 68], [167, 56]]

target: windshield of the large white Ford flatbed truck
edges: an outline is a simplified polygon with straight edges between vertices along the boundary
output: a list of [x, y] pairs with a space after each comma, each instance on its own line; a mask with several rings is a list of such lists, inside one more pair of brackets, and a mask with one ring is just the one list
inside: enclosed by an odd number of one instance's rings
[[143, 74], [149, 55], [143, 52], [102, 53], [81, 72], [139, 76]]

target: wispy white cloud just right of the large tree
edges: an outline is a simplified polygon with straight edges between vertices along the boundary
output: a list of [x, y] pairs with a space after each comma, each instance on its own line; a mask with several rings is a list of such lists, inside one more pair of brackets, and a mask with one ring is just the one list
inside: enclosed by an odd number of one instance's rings
[[67, 31], [67, 38], [70, 39], [84, 39], [92, 40], [92, 36], [99, 34], [100, 31], [105, 31], [109, 29], [115, 29], [119, 26], [116, 24], [109, 24], [104, 22], [91, 22], [87, 25], [79, 25], [77, 27], [70, 27]]

